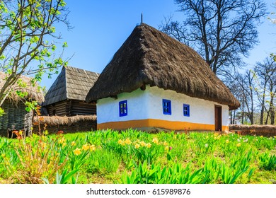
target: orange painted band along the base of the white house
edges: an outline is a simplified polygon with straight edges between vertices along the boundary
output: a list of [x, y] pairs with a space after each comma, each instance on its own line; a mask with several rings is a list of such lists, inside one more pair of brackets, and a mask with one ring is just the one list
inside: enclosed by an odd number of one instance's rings
[[[157, 127], [170, 130], [200, 130], [200, 131], [214, 131], [214, 124], [199, 124], [191, 122], [178, 122], [168, 120], [130, 120], [121, 122], [105, 122], [97, 124], [97, 129], [129, 129], [129, 128], [144, 128]], [[228, 131], [228, 126], [222, 126], [222, 131]]]

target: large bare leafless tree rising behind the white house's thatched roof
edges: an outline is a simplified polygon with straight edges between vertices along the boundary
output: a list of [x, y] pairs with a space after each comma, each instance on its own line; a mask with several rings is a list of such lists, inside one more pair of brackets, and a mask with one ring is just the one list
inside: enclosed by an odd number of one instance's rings
[[166, 18], [159, 28], [204, 57], [214, 74], [241, 66], [241, 55], [258, 43], [257, 25], [266, 15], [262, 0], [175, 0], [183, 22]]

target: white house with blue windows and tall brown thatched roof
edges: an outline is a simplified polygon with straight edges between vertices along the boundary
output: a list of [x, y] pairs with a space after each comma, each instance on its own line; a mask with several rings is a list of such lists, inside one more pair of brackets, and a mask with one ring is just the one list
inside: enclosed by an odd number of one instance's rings
[[240, 104], [197, 52], [141, 24], [86, 96], [98, 129], [228, 130]]

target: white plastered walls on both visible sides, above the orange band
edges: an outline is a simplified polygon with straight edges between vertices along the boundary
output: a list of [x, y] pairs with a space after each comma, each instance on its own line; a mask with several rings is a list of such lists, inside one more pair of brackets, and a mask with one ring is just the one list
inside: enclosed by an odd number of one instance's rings
[[[171, 115], [163, 115], [162, 99], [171, 100]], [[119, 116], [119, 102], [127, 100], [127, 116]], [[183, 103], [190, 105], [190, 117], [183, 116]], [[222, 125], [228, 126], [229, 107], [200, 98], [192, 98], [176, 91], [146, 86], [132, 93], [121, 93], [117, 99], [103, 98], [97, 102], [97, 122], [128, 120], [168, 120], [214, 124], [214, 105], [222, 106]]]

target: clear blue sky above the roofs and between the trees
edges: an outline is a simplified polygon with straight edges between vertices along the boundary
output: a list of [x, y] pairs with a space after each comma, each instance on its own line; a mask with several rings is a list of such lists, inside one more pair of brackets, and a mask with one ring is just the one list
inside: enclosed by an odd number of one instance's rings
[[[134, 27], [141, 21], [158, 28], [165, 16], [173, 14], [181, 19], [183, 15], [177, 12], [178, 6], [173, 0], [66, 0], [69, 7], [69, 22], [74, 28], [67, 31], [65, 25], [56, 25], [57, 32], [62, 34], [62, 40], [68, 47], [64, 58], [71, 57], [70, 66], [96, 71], [100, 73], [110, 62], [113, 54], [120, 48]], [[269, 11], [272, 0], [266, 0]], [[276, 16], [275, 16], [276, 18]], [[268, 19], [258, 27], [260, 44], [251, 50], [251, 55], [245, 61], [249, 66], [262, 62], [271, 52], [276, 52], [276, 24]], [[57, 51], [60, 52], [59, 49]], [[43, 78], [41, 85], [50, 88], [57, 75], [52, 79]]]

